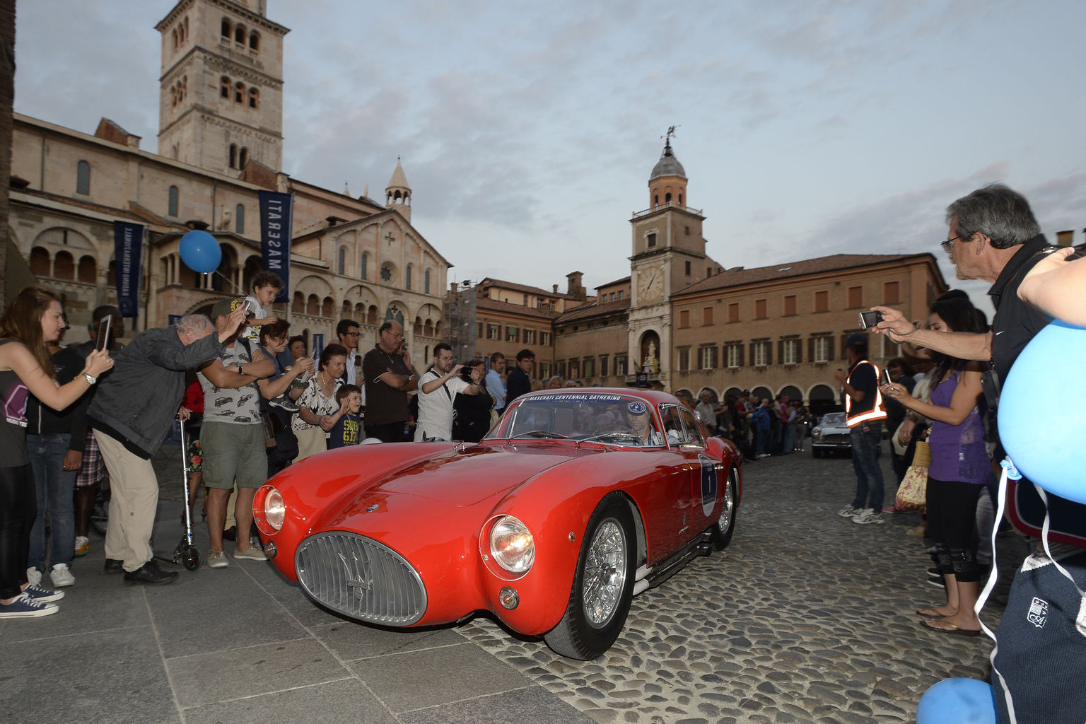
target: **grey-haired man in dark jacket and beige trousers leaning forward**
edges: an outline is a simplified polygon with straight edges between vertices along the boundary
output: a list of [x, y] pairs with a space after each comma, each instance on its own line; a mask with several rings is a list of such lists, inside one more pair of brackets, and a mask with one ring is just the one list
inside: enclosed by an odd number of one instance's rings
[[[125, 572], [129, 583], [173, 583], [177, 573], [154, 562], [151, 530], [159, 505], [159, 481], [151, 457], [180, 407], [185, 372], [218, 358], [245, 321], [244, 305], [213, 325], [203, 315], [184, 317], [176, 327], [149, 329], [114, 357], [88, 417], [110, 471], [110, 524], [105, 532], [105, 572]], [[213, 334], [212, 332], [218, 332]]]

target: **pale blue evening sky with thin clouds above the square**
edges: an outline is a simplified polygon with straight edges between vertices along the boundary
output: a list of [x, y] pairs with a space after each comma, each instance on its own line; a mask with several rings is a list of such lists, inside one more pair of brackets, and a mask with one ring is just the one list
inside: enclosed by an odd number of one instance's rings
[[[283, 170], [383, 198], [450, 280], [566, 289], [630, 272], [629, 218], [668, 126], [707, 253], [747, 268], [939, 252], [992, 181], [1041, 229], [1086, 227], [1086, 3], [268, 0], [291, 28]], [[157, 147], [160, 0], [21, 0], [15, 110]]]

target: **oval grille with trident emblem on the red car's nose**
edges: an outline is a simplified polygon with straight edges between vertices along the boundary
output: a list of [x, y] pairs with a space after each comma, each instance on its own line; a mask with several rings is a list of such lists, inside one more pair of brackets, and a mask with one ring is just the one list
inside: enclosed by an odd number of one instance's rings
[[298, 547], [294, 566], [314, 600], [352, 619], [405, 626], [426, 612], [426, 586], [411, 563], [363, 535], [311, 535]]

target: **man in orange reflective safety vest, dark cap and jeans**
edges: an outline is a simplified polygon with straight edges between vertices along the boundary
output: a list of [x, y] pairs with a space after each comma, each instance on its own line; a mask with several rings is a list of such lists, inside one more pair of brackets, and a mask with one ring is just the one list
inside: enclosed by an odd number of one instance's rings
[[879, 392], [879, 367], [868, 359], [867, 334], [849, 334], [845, 341], [848, 372], [834, 372], [845, 389], [845, 416], [853, 442], [856, 497], [837, 511], [854, 523], [883, 523], [883, 478], [879, 467], [879, 443], [886, 411]]

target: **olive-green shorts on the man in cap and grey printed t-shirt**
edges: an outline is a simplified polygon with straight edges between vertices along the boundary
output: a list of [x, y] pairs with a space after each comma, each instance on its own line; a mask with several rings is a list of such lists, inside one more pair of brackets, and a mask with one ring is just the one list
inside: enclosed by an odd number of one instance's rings
[[204, 485], [220, 490], [260, 487], [267, 482], [268, 456], [264, 425], [203, 423], [200, 430], [203, 452]]

